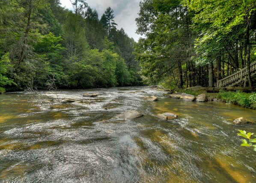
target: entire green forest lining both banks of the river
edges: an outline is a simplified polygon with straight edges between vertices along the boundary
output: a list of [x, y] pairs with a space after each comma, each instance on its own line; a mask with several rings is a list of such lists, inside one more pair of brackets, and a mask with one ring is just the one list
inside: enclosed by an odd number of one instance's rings
[[86, 0], [0, 1], [0, 90], [216, 87], [256, 61], [255, 0], [142, 0], [136, 43]]

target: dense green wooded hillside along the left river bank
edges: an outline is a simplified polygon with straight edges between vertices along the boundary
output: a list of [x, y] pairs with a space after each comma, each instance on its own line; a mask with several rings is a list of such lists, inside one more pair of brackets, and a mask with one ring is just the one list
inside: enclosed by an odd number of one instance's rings
[[[141, 84], [134, 40], [117, 30], [113, 10], [104, 18], [86, 0], [0, 1], [1, 90]], [[103, 20], [104, 19], [104, 20]]]

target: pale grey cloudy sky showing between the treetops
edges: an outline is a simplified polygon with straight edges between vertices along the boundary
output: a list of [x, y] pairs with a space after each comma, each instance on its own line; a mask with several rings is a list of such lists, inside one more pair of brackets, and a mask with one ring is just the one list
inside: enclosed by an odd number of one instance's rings
[[[138, 41], [140, 35], [135, 33], [137, 29], [135, 18], [138, 17], [140, 10], [140, 0], [86, 0], [86, 2], [92, 9], [97, 10], [99, 19], [110, 6], [114, 10], [114, 20], [118, 24], [116, 28], [123, 28], [129, 37]], [[67, 9], [73, 10], [70, 0], [60, 0], [60, 3]]]

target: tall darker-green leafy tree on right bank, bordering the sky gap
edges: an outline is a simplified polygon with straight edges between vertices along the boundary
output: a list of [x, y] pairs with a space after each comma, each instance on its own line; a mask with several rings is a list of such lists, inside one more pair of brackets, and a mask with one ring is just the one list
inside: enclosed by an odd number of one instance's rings
[[182, 88], [182, 64], [190, 61], [193, 53], [191, 15], [187, 7], [176, 0], [144, 0], [139, 15], [137, 32], [146, 36], [135, 46], [141, 73], [153, 84], [165, 81], [175, 72]]

